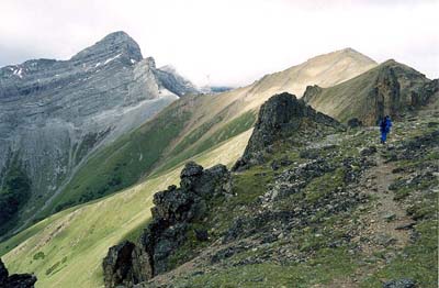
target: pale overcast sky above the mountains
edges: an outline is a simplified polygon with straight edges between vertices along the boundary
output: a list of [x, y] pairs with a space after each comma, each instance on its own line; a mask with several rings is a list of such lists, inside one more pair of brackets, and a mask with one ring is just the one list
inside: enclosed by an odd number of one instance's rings
[[439, 0], [1, 0], [0, 66], [68, 59], [123, 30], [198, 85], [249, 84], [352, 47], [439, 77]]

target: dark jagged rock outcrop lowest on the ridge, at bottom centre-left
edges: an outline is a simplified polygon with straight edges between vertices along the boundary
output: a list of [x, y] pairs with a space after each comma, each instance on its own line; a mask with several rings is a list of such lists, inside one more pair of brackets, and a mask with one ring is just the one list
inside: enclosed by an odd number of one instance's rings
[[[105, 287], [131, 287], [169, 270], [168, 257], [185, 241], [189, 223], [205, 214], [210, 199], [229, 193], [232, 187], [224, 165], [203, 169], [188, 163], [180, 178], [180, 188], [170, 186], [154, 196], [153, 220], [138, 243], [124, 242], [109, 250], [102, 264]], [[205, 231], [196, 233], [205, 241]]]

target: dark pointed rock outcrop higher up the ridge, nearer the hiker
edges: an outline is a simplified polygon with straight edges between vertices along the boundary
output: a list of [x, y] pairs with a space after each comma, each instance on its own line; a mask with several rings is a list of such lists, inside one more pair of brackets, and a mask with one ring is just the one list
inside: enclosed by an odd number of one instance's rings
[[263, 151], [279, 140], [288, 140], [299, 132], [309, 135], [322, 128], [340, 129], [341, 125], [330, 117], [316, 112], [302, 99], [294, 95], [280, 93], [262, 104], [258, 121], [247, 144], [244, 155], [234, 166], [240, 170], [248, 166], [263, 162]]

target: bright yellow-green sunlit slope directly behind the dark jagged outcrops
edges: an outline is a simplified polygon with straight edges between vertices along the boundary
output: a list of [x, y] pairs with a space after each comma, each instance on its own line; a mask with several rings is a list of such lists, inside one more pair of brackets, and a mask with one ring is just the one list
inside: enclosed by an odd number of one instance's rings
[[[193, 159], [206, 167], [217, 163], [230, 166], [241, 155], [250, 133], [241, 133]], [[138, 234], [149, 219], [151, 196], [177, 184], [181, 168], [56, 213], [1, 243], [0, 255], [11, 273], [35, 273], [36, 287], [100, 287], [101, 261], [108, 248]]]

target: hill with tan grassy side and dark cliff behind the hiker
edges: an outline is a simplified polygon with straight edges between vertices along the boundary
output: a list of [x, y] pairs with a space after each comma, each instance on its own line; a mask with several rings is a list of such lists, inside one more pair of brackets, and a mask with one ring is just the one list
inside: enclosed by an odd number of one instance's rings
[[304, 100], [314, 109], [347, 122], [352, 118], [368, 125], [383, 115], [402, 113], [438, 102], [438, 80], [387, 60], [380, 66], [330, 88], [307, 87]]

